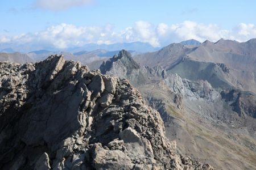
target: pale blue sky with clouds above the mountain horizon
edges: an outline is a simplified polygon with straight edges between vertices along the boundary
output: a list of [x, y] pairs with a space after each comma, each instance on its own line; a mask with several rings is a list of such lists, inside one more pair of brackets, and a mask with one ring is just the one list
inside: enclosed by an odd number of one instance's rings
[[256, 1], [9, 0], [0, 2], [0, 44], [148, 42], [256, 37]]

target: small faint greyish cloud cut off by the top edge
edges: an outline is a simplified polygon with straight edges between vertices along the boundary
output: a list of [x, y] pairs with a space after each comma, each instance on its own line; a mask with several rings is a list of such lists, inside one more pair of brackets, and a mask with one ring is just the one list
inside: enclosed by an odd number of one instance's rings
[[92, 0], [36, 0], [36, 7], [46, 10], [65, 10], [72, 7], [88, 5]]

